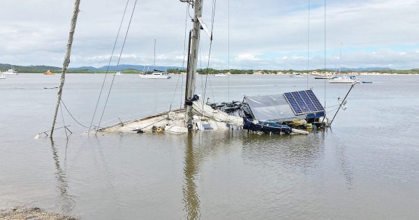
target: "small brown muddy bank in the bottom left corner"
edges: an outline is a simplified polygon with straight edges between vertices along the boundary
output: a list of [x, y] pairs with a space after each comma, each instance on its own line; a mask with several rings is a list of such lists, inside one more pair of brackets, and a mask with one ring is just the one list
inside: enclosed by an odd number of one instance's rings
[[66, 217], [57, 213], [45, 212], [38, 207], [15, 207], [10, 210], [0, 210], [0, 219], [77, 220], [75, 217]]

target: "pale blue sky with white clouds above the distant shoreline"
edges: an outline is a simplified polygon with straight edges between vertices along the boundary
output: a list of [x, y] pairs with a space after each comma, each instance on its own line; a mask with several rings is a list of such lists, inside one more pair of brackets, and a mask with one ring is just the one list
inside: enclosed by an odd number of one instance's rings
[[[204, 1], [203, 17], [211, 27], [214, 1]], [[134, 2], [129, 0], [127, 15]], [[0, 63], [61, 66], [73, 3], [1, 0]], [[81, 0], [71, 67], [108, 64], [125, 5]], [[323, 68], [325, 54], [328, 68], [419, 68], [418, 0], [328, 0], [326, 17], [324, 0], [310, 0], [308, 8], [308, 0], [216, 1], [210, 67], [306, 69], [309, 53], [309, 68]], [[156, 39], [156, 65], [182, 66], [185, 24], [191, 28], [186, 11], [178, 0], [138, 0], [121, 64], [152, 65]], [[201, 36], [198, 66], [205, 67], [210, 42]]]

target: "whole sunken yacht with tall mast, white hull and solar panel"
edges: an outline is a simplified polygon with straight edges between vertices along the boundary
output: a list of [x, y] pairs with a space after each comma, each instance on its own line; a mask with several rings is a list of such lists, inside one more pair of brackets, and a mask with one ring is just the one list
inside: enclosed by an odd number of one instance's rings
[[195, 94], [196, 66], [200, 30], [212, 41], [212, 34], [203, 22], [203, 0], [180, 0], [195, 10], [193, 29], [189, 31], [188, 64], [184, 108], [133, 119], [97, 129], [119, 133], [189, 133], [245, 129], [255, 133], [308, 134], [328, 126], [325, 108], [311, 90], [293, 91], [267, 96], [244, 96], [233, 103], [204, 103]]

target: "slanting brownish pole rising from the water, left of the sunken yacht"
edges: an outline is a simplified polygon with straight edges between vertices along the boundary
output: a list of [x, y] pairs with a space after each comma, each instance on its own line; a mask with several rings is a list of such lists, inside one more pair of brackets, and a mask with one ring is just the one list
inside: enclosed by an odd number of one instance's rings
[[79, 13], [79, 6], [80, 6], [80, 0], [75, 0], [73, 17], [71, 18], [70, 34], [68, 35], [67, 50], [66, 50], [66, 55], [64, 57], [63, 69], [61, 71], [61, 80], [60, 80], [58, 94], [57, 94], [57, 105], [55, 105], [54, 119], [52, 120], [52, 129], [51, 129], [51, 134], [50, 134], [51, 138], [52, 138], [52, 134], [54, 133], [54, 126], [55, 126], [55, 121], [57, 120], [57, 112], [58, 112], [59, 104], [61, 103], [61, 94], [63, 92], [64, 81], [66, 80], [66, 72], [67, 72], [68, 64], [70, 64], [71, 45], [73, 44], [73, 36], [74, 36], [75, 24], [77, 23], [77, 15]]

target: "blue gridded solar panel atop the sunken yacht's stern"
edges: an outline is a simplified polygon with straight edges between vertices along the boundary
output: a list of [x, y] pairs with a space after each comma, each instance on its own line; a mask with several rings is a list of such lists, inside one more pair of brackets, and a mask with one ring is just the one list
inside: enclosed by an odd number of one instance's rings
[[325, 110], [311, 90], [286, 92], [284, 96], [291, 105], [295, 115], [324, 112]]

